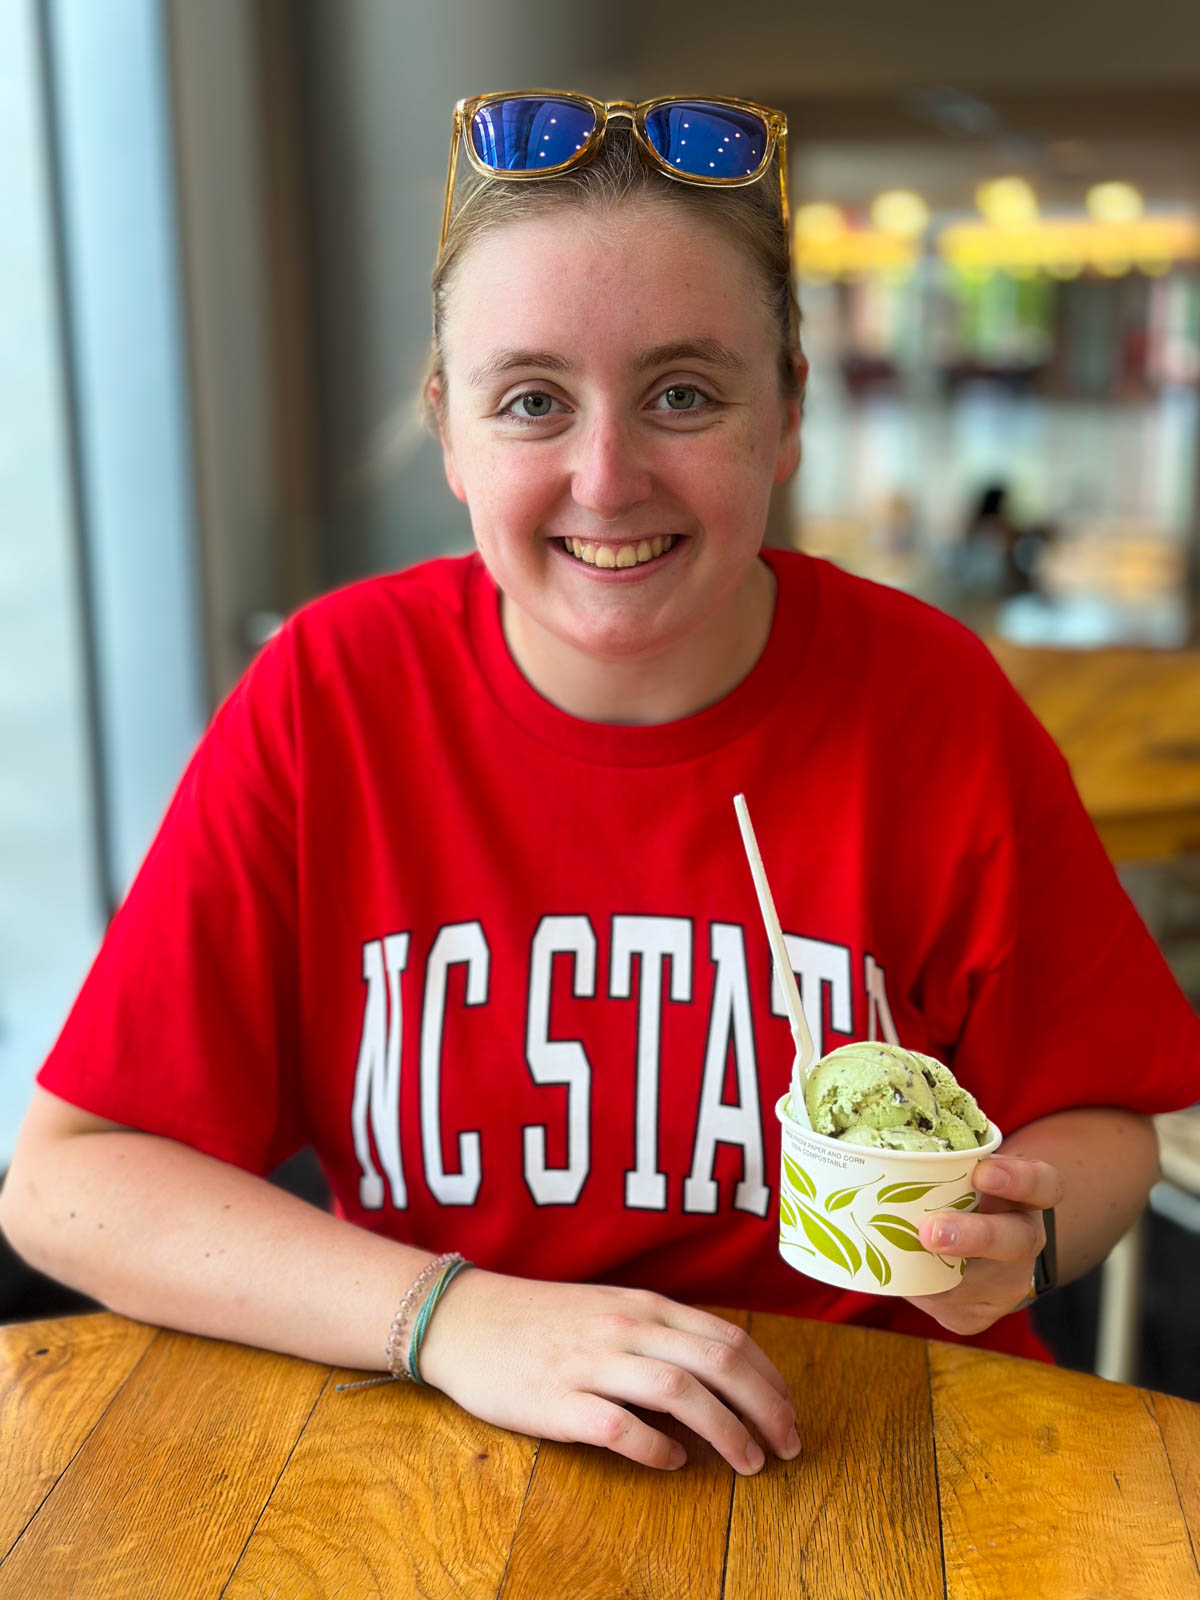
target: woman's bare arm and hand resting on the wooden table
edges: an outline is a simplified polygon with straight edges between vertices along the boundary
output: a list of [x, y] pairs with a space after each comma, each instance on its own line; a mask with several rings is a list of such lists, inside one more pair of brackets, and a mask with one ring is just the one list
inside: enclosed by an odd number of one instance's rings
[[[42, 1090], [0, 1224], [32, 1266], [126, 1317], [366, 1370], [430, 1259]], [[635, 1290], [466, 1272], [430, 1322], [422, 1376], [483, 1421], [646, 1466], [682, 1451], [630, 1405], [677, 1416], [739, 1472], [762, 1466], [742, 1418], [778, 1454], [800, 1450], [787, 1387], [741, 1328]]]

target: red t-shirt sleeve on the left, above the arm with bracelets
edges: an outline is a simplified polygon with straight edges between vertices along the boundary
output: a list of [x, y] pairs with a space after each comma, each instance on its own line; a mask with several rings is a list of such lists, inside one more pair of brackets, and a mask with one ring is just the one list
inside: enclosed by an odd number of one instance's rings
[[304, 1142], [288, 638], [221, 707], [38, 1083], [266, 1173]]

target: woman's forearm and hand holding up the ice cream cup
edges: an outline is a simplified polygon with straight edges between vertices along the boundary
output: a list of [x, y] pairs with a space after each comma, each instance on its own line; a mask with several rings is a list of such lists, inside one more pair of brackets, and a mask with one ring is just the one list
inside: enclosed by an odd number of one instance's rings
[[968, 1267], [957, 1288], [912, 1304], [954, 1333], [982, 1333], [1027, 1301], [1046, 1206], [1054, 1206], [1058, 1277], [1067, 1283], [1133, 1226], [1157, 1176], [1158, 1139], [1147, 1117], [1088, 1107], [1030, 1122], [978, 1163], [978, 1211], [942, 1211], [922, 1224], [928, 1250], [963, 1256]]

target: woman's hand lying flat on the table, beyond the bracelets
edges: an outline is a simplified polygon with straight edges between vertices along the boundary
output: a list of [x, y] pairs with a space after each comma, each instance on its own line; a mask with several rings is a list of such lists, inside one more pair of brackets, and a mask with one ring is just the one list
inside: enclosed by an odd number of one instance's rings
[[786, 1461], [800, 1451], [787, 1386], [754, 1339], [648, 1290], [464, 1272], [430, 1320], [421, 1376], [485, 1422], [648, 1467], [686, 1453], [627, 1406], [678, 1418], [738, 1472], [763, 1464], [747, 1421]]

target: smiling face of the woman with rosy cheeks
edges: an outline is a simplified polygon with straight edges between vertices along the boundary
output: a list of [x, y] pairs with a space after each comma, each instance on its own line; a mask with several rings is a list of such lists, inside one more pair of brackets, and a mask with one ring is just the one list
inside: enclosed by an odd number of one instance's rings
[[514, 621], [602, 661], [720, 635], [798, 405], [752, 264], [669, 205], [486, 234], [451, 283], [450, 486]]

